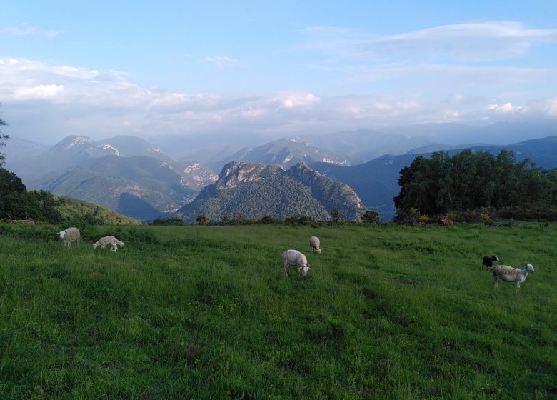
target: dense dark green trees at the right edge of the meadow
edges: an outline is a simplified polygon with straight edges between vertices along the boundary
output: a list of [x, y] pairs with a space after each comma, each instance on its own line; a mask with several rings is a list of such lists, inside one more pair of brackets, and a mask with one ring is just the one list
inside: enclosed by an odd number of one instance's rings
[[543, 169], [529, 159], [516, 162], [513, 151], [494, 156], [470, 149], [419, 156], [401, 169], [398, 214], [414, 209], [436, 215], [450, 211], [557, 209], [557, 169]]

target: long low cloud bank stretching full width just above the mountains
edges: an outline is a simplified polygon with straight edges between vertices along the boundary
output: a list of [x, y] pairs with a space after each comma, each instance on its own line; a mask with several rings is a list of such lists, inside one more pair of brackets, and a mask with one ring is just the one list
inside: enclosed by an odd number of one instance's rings
[[[446, 93], [321, 96], [308, 91], [234, 97], [146, 89], [115, 71], [0, 58], [0, 99], [9, 134], [54, 143], [69, 134], [246, 132], [284, 136], [426, 122], [557, 117], [557, 98], [516, 106], [513, 97], [453, 101]], [[465, 97], [465, 95], [462, 95]], [[521, 102], [520, 104], [526, 104]], [[484, 120], [484, 118], [486, 118]], [[39, 136], [43, 135], [43, 136]]]

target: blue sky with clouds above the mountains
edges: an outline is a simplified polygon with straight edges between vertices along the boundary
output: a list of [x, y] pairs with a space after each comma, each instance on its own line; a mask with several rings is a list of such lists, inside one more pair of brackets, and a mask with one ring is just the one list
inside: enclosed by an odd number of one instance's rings
[[557, 121], [557, 1], [11, 1], [11, 136]]

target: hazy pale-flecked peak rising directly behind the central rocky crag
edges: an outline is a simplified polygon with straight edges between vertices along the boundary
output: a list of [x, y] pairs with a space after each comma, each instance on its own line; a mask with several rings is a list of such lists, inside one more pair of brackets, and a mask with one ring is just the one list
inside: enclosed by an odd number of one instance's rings
[[215, 165], [224, 165], [231, 161], [244, 161], [267, 165], [278, 164], [285, 168], [298, 164], [298, 162], [327, 162], [340, 165], [350, 164], [343, 156], [339, 156], [333, 151], [319, 149], [309, 144], [307, 141], [286, 138], [271, 141], [263, 146], [255, 148], [241, 149], [235, 154], [215, 163]]

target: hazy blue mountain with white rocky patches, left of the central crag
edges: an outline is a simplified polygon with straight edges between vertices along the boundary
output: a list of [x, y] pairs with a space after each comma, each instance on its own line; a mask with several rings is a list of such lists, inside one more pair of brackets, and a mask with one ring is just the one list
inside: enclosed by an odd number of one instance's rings
[[[31, 189], [119, 209], [142, 221], [178, 209], [218, 178], [209, 167], [174, 161], [151, 142], [134, 136], [103, 141], [68, 136], [10, 167]], [[134, 197], [120, 199], [122, 194]]]

